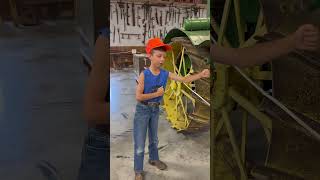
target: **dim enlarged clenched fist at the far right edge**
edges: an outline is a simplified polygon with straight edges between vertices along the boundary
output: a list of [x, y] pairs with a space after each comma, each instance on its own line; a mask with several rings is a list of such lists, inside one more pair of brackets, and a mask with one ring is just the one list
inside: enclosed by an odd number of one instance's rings
[[319, 36], [319, 28], [311, 24], [302, 25], [293, 34], [295, 48], [299, 50], [317, 50]]

